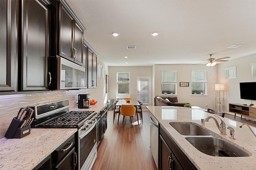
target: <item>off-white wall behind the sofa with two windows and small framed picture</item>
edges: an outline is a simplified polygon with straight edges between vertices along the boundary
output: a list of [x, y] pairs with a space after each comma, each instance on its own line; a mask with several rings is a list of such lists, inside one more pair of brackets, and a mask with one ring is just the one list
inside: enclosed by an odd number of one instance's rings
[[[155, 65], [155, 96], [161, 96], [161, 70], [177, 70], [177, 97], [178, 102], [188, 102], [192, 106], [199, 106], [207, 109], [215, 109], [215, 84], [217, 83], [217, 66], [207, 67], [204, 64], [158, 64]], [[207, 71], [207, 95], [191, 95], [191, 70], [208, 70]], [[180, 82], [189, 82], [189, 87], [180, 87]]]

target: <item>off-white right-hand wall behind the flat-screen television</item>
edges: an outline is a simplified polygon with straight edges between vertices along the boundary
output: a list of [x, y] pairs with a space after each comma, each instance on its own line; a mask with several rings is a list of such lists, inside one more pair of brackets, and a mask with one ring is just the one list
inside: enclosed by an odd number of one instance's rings
[[[231, 57], [232, 58], [232, 57]], [[240, 82], [256, 82], [256, 77], [251, 77], [250, 63], [256, 63], [256, 54], [218, 64], [218, 83], [225, 84], [224, 107], [228, 111], [228, 103], [253, 104], [256, 101], [240, 99]], [[225, 79], [224, 68], [236, 66], [236, 78]], [[255, 87], [256, 90], [256, 87]]]

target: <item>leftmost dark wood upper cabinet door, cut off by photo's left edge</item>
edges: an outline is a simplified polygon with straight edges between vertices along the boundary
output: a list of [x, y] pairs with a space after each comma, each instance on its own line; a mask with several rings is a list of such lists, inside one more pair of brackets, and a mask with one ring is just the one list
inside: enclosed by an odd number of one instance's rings
[[0, 1], [0, 92], [17, 91], [16, 59], [18, 55], [17, 1]]

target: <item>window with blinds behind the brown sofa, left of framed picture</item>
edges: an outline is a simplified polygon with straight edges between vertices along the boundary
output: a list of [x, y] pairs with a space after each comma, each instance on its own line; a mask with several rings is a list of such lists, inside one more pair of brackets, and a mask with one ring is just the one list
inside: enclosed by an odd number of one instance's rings
[[162, 70], [162, 94], [177, 94], [177, 70]]

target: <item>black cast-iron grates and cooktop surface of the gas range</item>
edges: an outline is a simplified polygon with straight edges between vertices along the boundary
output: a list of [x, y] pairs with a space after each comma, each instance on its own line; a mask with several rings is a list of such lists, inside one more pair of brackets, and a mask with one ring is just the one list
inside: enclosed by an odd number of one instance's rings
[[41, 123], [38, 127], [79, 127], [95, 111], [69, 111]]

